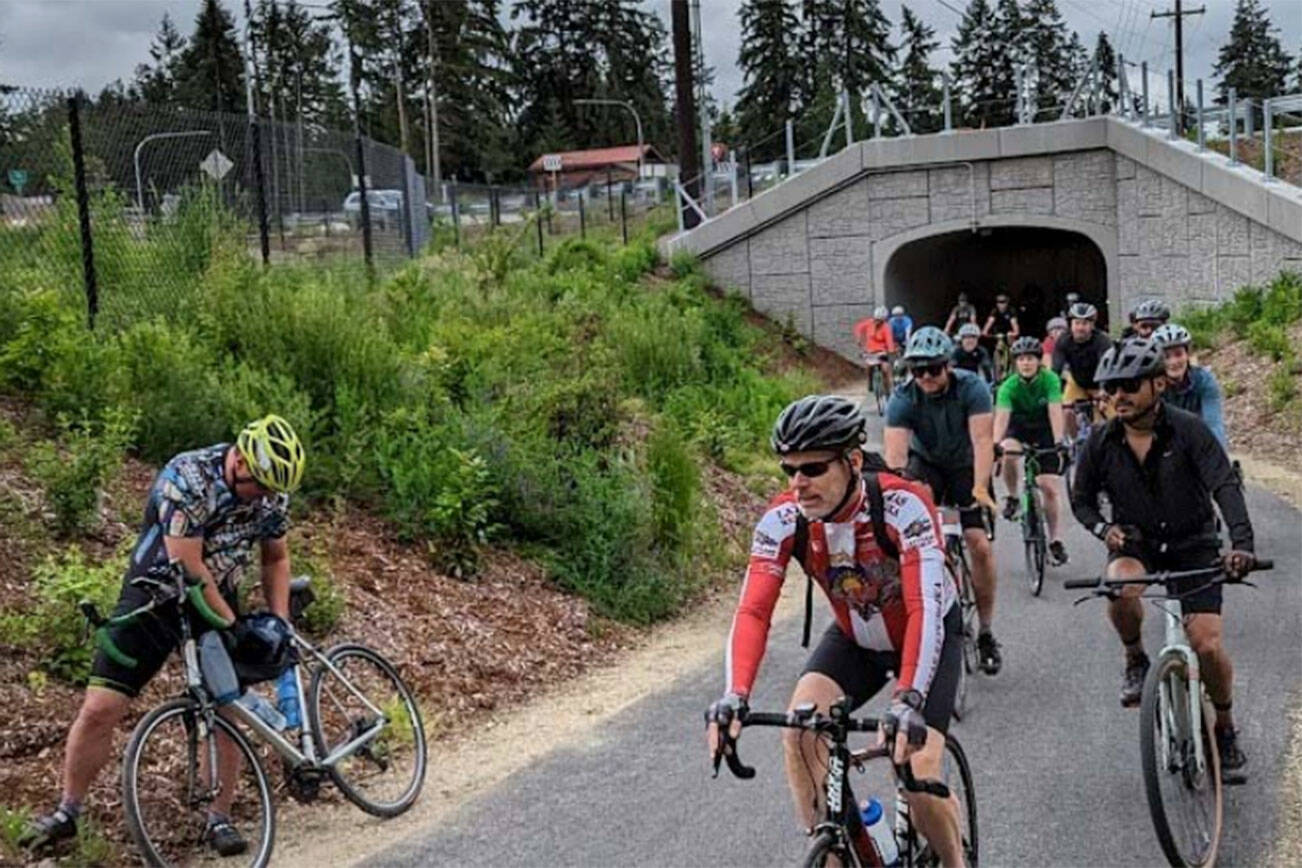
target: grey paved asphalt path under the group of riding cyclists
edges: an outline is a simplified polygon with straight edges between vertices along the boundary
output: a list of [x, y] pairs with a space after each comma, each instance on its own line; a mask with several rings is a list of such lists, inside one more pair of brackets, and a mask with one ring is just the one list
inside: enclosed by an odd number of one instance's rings
[[[1260, 590], [1226, 588], [1225, 644], [1236, 666], [1236, 709], [1249, 753], [1246, 786], [1228, 787], [1221, 865], [1258, 865], [1276, 821], [1286, 709], [1302, 699], [1302, 517], [1250, 487], [1258, 552], [1273, 557]], [[1073, 606], [1064, 578], [1098, 574], [1101, 545], [1070, 519], [1072, 562], [1032, 599], [1013, 524], [1000, 522], [995, 632], [1004, 669], [971, 685], [967, 720], [952, 730], [974, 768], [983, 865], [1161, 865], [1139, 770], [1138, 712], [1117, 701], [1120, 644], [1103, 601]], [[797, 580], [796, 578], [789, 580]], [[803, 580], [803, 579], [799, 579]], [[822, 625], [827, 605], [816, 596]], [[1144, 642], [1161, 643], [1151, 610]], [[816, 623], [814, 632], [822, 625]], [[581, 748], [559, 750], [368, 865], [790, 865], [797, 832], [776, 730], [747, 731], [751, 781], [711, 780], [702, 711], [723, 687], [719, 662], [684, 671], [629, 707]], [[805, 655], [799, 617], [775, 623], [753, 701], [780, 711]], [[876, 711], [881, 698], [867, 707]], [[880, 764], [878, 764], [880, 765]], [[439, 774], [432, 760], [431, 781]], [[861, 798], [889, 794], [884, 772], [855, 777]], [[885, 800], [885, 799], [883, 799]]]

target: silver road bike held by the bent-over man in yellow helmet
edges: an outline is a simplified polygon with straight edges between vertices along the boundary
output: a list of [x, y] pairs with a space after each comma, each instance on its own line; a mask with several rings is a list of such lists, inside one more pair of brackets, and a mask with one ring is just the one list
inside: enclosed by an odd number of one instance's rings
[[[203, 599], [202, 583], [176, 569], [169, 580], [139, 578], [133, 584], [146, 590], [151, 600], [132, 612], [104, 618], [90, 601], [78, 606], [94, 627], [96, 645], [125, 666], [135, 666], [137, 660], [113, 643], [108, 629], [148, 617], [172, 603], [180, 612], [174, 621], [180, 625], [185, 692], [141, 720], [122, 757], [126, 826], [147, 864], [201, 858], [204, 813], [223, 789], [234, 791], [230, 822], [249, 842], [247, 864], [260, 868], [271, 859], [276, 825], [271, 786], [258, 753], [236, 722], [283, 757], [288, 790], [299, 802], [312, 802], [328, 778], [353, 804], [374, 816], [395, 817], [415, 803], [426, 773], [424, 727], [411, 691], [383, 656], [361, 644], [322, 652], [290, 629], [297, 657], [292, 671], [299, 700], [305, 696], [299, 661], [306, 657], [315, 664], [309, 701], [299, 701], [305, 725], [296, 748], [243, 703], [219, 707], [204, 685], [189, 616], [193, 612], [198, 623], [212, 629], [229, 625]], [[294, 579], [290, 610], [301, 613], [311, 601], [310, 579]], [[217, 734], [225, 737], [225, 743]], [[233, 751], [238, 760], [238, 770], [228, 780], [217, 780], [220, 774], [215, 773], [221, 770], [219, 750]], [[400, 764], [410, 773], [397, 770]], [[393, 783], [397, 786], [389, 790]]]

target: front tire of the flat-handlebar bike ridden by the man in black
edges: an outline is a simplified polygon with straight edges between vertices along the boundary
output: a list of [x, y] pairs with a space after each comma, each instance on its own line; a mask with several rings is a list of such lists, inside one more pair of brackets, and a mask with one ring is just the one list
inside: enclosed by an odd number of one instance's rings
[[[1207, 850], [1200, 858], [1190, 859], [1186, 854], [1181, 852], [1180, 845], [1176, 842], [1176, 835], [1172, 832], [1170, 819], [1168, 817], [1168, 811], [1165, 800], [1161, 794], [1161, 777], [1169, 776], [1167, 769], [1157, 768], [1159, 764], [1159, 751], [1157, 751], [1157, 734], [1156, 729], [1160, 721], [1159, 714], [1163, 712], [1161, 707], [1161, 691], [1160, 686], [1167, 679], [1168, 674], [1174, 675], [1177, 670], [1184, 670], [1186, 668], [1184, 657], [1176, 653], [1169, 653], [1161, 657], [1150, 670], [1148, 677], [1144, 678], [1143, 685], [1143, 698], [1139, 704], [1139, 759], [1143, 766], [1143, 780], [1144, 780], [1144, 794], [1148, 799], [1148, 813], [1152, 816], [1154, 830], [1157, 833], [1157, 843], [1161, 845], [1161, 851], [1167, 856], [1167, 860], [1176, 865], [1176, 868], [1189, 867], [1197, 868], [1199, 865], [1211, 865], [1216, 861], [1216, 851], [1220, 848], [1220, 835], [1224, 825], [1224, 793], [1221, 790], [1220, 780], [1220, 753], [1216, 750], [1216, 734], [1212, 731], [1212, 721], [1215, 720], [1215, 709], [1212, 709], [1211, 703], [1203, 699], [1203, 750], [1207, 753], [1207, 781], [1212, 787], [1212, 812], [1213, 822], [1211, 829], [1211, 841], [1207, 845]], [[1184, 682], [1184, 678], [1178, 679]], [[1176, 690], [1187, 690], [1184, 683], [1177, 683]]]

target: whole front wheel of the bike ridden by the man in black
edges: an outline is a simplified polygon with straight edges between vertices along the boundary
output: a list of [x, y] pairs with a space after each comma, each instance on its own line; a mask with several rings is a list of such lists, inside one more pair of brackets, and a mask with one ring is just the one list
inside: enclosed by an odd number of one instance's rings
[[1211, 865], [1221, 833], [1220, 753], [1215, 711], [1202, 703], [1203, 770], [1195, 764], [1184, 657], [1167, 655], [1148, 670], [1139, 704], [1139, 757], [1157, 842], [1172, 865]]

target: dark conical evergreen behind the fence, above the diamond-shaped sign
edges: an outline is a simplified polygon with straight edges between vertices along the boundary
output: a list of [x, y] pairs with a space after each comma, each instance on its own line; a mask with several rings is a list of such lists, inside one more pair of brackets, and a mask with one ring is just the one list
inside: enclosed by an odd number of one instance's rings
[[203, 0], [194, 35], [176, 66], [176, 102], [214, 112], [243, 112], [243, 57], [234, 20], [220, 0]]

